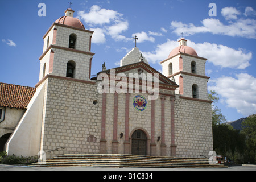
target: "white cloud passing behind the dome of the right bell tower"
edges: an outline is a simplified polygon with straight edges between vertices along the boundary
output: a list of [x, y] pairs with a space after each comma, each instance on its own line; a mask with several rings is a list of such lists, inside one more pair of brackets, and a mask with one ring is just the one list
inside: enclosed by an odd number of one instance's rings
[[[227, 46], [213, 43], [194, 43], [188, 40], [187, 45], [196, 50], [197, 55], [205, 57], [210, 63], [222, 68], [245, 69], [250, 65], [253, 55], [243, 49], [233, 49]], [[143, 52], [143, 55], [151, 63], [157, 63], [168, 58], [168, 55], [178, 46], [177, 41], [167, 39], [167, 42], [158, 44], [151, 52]]]

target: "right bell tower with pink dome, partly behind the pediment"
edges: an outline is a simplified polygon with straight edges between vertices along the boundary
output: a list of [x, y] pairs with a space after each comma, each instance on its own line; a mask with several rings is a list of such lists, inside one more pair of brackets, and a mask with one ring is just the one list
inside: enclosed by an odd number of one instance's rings
[[163, 75], [175, 81], [180, 87], [176, 94], [187, 98], [208, 100], [207, 82], [205, 76], [207, 59], [199, 57], [192, 47], [187, 46], [187, 40], [181, 38], [179, 46], [174, 48], [166, 60], [160, 62]]

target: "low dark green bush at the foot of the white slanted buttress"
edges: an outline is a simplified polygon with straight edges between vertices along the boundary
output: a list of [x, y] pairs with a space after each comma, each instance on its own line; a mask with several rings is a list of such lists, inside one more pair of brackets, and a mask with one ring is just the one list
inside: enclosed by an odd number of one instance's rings
[[23, 156], [8, 155], [2, 158], [2, 164], [32, 164], [36, 163], [38, 159], [36, 157], [25, 158]]

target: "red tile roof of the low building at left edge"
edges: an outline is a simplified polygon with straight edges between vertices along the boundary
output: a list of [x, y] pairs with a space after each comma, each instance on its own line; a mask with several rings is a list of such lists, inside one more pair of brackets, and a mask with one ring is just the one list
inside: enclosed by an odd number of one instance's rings
[[0, 83], [0, 107], [26, 109], [35, 91], [29, 86]]

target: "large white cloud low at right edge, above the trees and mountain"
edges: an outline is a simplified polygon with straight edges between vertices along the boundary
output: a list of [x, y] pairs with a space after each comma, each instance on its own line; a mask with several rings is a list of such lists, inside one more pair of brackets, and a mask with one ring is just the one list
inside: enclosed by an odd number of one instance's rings
[[256, 78], [247, 73], [233, 77], [220, 77], [212, 80], [215, 86], [209, 90], [219, 93], [228, 107], [232, 107], [245, 116], [256, 113]]

